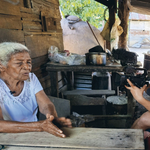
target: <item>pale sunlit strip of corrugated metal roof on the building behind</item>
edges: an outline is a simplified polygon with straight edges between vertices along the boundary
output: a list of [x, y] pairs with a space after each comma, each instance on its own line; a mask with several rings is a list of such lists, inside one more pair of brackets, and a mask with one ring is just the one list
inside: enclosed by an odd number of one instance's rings
[[135, 12], [130, 12], [129, 15], [130, 20], [150, 20], [150, 15], [138, 14]]

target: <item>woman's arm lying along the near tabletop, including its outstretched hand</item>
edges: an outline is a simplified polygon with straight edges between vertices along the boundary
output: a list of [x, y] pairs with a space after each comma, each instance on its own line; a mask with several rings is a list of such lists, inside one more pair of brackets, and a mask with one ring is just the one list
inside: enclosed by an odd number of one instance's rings
[[21, 132], [48, 132], [58, 137], [65, 137], [63, 132], [53, 123], [53, 117], [38, 122], [17, 122], [6, 121], [3, 119], [2, 110], [0, 108], [0, 132], [1, 133], [21, 133]]

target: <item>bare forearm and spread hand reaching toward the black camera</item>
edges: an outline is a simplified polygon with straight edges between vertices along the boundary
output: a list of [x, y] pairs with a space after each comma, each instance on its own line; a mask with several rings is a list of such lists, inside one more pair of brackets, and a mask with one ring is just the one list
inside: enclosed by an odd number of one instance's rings
[[127, 82], [129, 83], [130, 87], [125, 87], [130, 90], [135, 100], [137, 100], [141, 105], [143, 105], [148, 111], [150, 111], [150, 101], [146, 100], [143, 97], [143, 92], [145, 91], [147, 85], [144, 85], [141, 88], [136, 87], [129, 79], [127, 79]]

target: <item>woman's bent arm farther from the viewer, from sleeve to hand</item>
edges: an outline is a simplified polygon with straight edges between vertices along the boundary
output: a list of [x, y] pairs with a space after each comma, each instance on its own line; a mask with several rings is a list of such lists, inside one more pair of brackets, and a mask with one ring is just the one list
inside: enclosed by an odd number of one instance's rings
[[60, 126], [72, 127], [72, 123], [70, 119], [65, 117], [58, 118], [57, 112], [54, 104], [50, 101], [43, 90], [39, 91], [36, 94], [36, 100], [39, 106], [39, 110], [42, 114], [46, 116], [46, 118], [50, 118], [54, 116], [54, 122]]

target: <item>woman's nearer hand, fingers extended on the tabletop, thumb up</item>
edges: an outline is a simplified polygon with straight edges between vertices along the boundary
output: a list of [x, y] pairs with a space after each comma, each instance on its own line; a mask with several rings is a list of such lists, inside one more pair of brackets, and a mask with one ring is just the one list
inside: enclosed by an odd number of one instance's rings
[[65, 134], [63, 134], [63, 131], [53, 124], [53, 120], [54, 120], [53, 115], [47, 114], [46, 118], [47, 119], [42, 121], [41, 123], [41, 128], [43, 131], [58, 137], [62, 137], [62, 138], [66, 137]]

